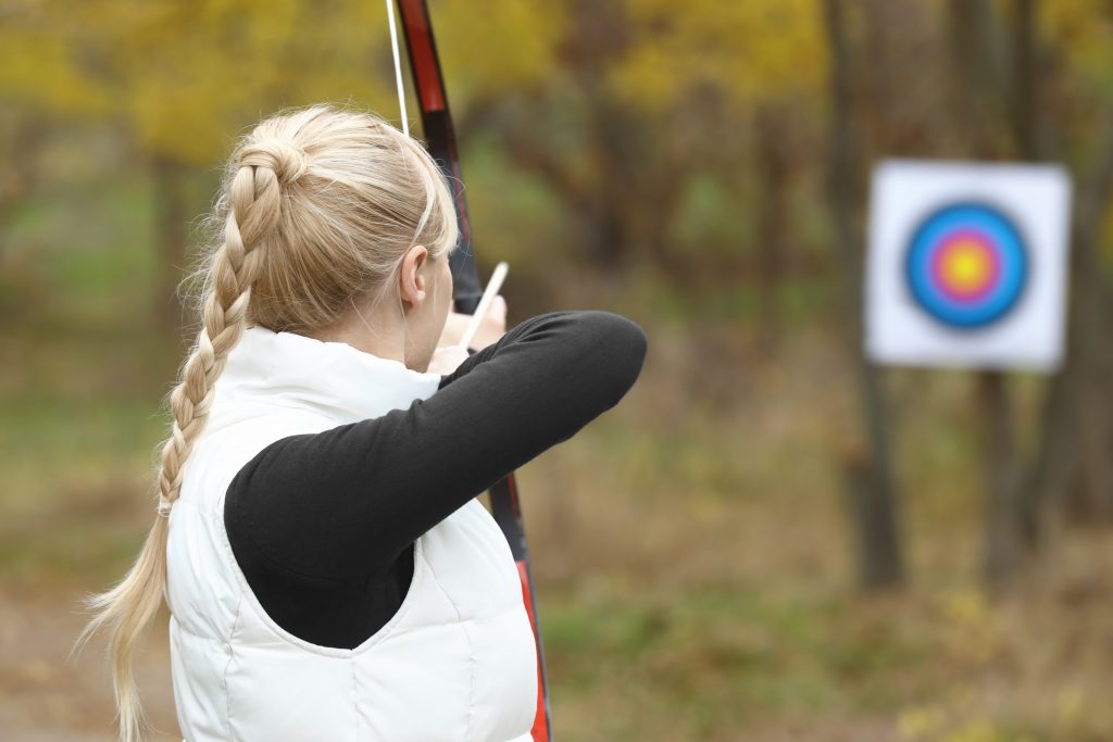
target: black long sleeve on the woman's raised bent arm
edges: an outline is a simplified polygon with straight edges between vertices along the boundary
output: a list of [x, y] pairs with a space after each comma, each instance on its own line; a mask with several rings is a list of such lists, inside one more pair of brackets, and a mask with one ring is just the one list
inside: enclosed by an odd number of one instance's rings
[[233, 479], [224, 512], [259, 603], [305, 641], [364, 642], [405, 597], [414, 541], [618, 404], [646, 345], [619, 315], [540, 315], [407, 409], [268, 445]]

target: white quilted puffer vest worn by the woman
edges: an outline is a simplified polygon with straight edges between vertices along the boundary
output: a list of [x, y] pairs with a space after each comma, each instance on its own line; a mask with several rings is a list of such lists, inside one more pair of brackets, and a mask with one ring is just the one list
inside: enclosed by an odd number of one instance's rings
[[408, 408], [440, 379], [341, 343], [245, 332], [170, 512], [171, 672], [188, 742], [531, 739], [533, 633], [510, 547], [479, 502], [417, 540], [402, 607], [353, 650], [275, 624], [225, 532], [225, 492], [268, 444]]

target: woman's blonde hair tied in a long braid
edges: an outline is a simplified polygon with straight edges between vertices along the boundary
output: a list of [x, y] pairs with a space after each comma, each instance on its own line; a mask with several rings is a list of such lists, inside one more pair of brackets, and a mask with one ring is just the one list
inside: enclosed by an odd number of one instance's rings
[[208, 221], [223, 225], [223, 237], [206, 250], [200, 332], [169, 395], [158, 516], [124, 580], [88, 600], [95, 615], [78, 640], [108, 631], [125, 742], [147, 726], [132, 655], [162, 603], [170, 508], [244, 328], [328, 327], [357, 298], [386, 295], [410, 247], [440, 259], [457, 238], [452, 194], [424, 148], [374, 115], [328, 105], [274, 116], [244, 137]]

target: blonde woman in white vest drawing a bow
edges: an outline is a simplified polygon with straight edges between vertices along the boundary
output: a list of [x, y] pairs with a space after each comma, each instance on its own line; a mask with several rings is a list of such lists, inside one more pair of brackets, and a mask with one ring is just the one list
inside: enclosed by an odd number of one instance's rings
[[618, 403], [641, 329], [562, 311], [499, 337], [496, 317], [496, 342], [451, 347], [451, 194], [367, 113], [259, 123], [215, 220], [158, 516], [87, 630], [110, 632], [121, 739], [165, 595], [189, 742], [529, 740], [533, 636], [474, 498]]

